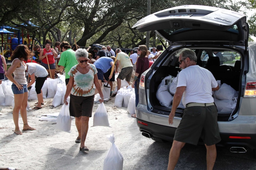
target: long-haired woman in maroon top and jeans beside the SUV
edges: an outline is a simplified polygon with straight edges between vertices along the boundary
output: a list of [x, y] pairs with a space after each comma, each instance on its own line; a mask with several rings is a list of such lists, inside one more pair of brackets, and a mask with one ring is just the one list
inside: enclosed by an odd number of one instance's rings
[[[132, 82], [132, 88], [135, 88], [135, 107], [137, 107], [139, 103], [140, 76], [143, 72], [145, 72], [149, 68], [147, 46], [145, 45], [139, 46], [137, 54], [139, 55], [139, 57], [135, 63], [136, 71], [135, 71], [135, 76]], [[133, 114], [132, 117], [136, 117], [136, 114]]]

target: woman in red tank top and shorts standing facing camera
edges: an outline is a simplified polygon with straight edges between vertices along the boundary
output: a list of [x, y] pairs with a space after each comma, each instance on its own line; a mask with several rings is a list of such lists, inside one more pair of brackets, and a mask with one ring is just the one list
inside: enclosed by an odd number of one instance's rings
[[[50, 40], [45, 40], [45, 48], [40, 50], [39, 59], [41, 60], [41, 65], [46, 68], [48, 73], [51, 72], [51, 78], [54, 79], [56, 69], [55, 58], [58, 57], [58, 54], [53, 48], [51, 48], [51, 43], [52, 42]], [[48, 62], [46, 57], [48, 58], [50, 68], [48, 68]]]

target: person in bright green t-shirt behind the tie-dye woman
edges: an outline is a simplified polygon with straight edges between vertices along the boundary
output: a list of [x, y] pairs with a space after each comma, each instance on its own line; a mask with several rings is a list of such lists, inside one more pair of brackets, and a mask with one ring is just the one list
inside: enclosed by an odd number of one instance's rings
[[70, 69], [78, 64], [78, 61], [75, 57], [75, 51], [71, 49], [71, 46], [69, 45], [68, 42], [63, 41], [60, 45], [61, 50], [63, 53], [61, 54], [60, 61], [59, 61], [59, 68], [60, 68], [60, 74], [63, 74], [65, 71], [65, 82], [66, 85], [69, 82], [69, 75], [67, 74]]

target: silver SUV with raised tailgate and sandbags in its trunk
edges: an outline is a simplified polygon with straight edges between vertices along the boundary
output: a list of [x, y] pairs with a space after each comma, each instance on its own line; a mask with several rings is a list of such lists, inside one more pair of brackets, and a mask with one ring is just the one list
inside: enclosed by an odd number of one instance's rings
[[[221, 88], [225, 84], [233, 89], [231, 93], [222, 91], [222, 99], [214, 95], [222, 139], [219, 145], [228, 146], [231, 152], [256, 149], [256, 43], [248, 45], [249, 26], [244, 14], [216, 7], [185, 5], [148, 15], [133, 28], [140, 32], [155, 30], [170, 44], [140, 78], [136, 116], [143, 136], [155, 141], [173, 140], [184, 106], [181, 104], [176, 110], [174, 123], [169, 125], [172, 105], [167, 101], [173, 93], [168, 86], [175, 83], [181, 70], [175, 54], [181, 48], [190, 48], [197, 54], [197, 64], [209, 69]], [[219, 57], [213, 55], [217, 52], [239, 57], [221, 65]], [[206, 54], [209, 59], [203, 61]], [[161, 82], [167, 90], [159, 97]], [[226, 99], [227, 95], [231, 98]]]

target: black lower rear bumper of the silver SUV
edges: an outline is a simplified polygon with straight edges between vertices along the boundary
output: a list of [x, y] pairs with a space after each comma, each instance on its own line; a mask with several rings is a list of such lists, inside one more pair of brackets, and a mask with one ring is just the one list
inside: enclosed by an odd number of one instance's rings
[[[137, 125], [141, 132], [146, 132], [151, 137], [156, 137], [162, 140], [173, 141], [175, 134], [175, 127], [168, 127], [164, 125], [154, 124], [144, 120], [137, 119]], [[143, 122], [146, 125], [143, 125], [138, 122]], [[250, 137], [251, 139], [234, 139], [230, 136], [235, 137]], [[227, 147], [246, 147], [248, 149], [256, 149], [256, 134], [234, 134], [234, 133], [220, 133], [221, 142], [217, 143], [217, 146], [227, 146]], [[199, 140], [198, 144], [203, 144]]]

